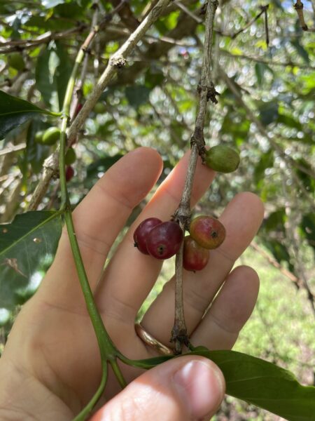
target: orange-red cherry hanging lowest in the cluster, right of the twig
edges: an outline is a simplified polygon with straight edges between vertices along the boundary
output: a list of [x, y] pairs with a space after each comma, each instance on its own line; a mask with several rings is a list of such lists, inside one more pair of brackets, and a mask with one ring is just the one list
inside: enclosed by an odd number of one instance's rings
[[183, 267], [195, 272], [202, 270], [209, 261], [209, 250], [201, 247], [190, 235], [184, 239]]

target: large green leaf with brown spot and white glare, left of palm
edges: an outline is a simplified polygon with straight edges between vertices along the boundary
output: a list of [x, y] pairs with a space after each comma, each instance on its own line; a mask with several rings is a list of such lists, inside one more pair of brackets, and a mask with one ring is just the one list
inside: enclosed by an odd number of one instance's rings
[[0, 225], [0, 308], [13, 309], [34, 293], [52, 262], [61, 235], [61, 213], [27, 212]]

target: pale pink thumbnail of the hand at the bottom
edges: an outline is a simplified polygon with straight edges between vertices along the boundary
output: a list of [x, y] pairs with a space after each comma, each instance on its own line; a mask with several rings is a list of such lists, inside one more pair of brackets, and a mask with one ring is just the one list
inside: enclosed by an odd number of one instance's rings
[[216, 413], [224, 393], [221, 371], [209, 361], [190, 361], [174, 374], [174, 384], [190, 415], [196, 419]]

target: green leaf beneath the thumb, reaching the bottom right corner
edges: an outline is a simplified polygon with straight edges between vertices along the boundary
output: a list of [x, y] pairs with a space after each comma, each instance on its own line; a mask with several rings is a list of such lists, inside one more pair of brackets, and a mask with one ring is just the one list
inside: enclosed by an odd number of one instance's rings
[[[200, 355], [214, 361], [225, 377], [227, 394], [288, 421], [314, 421], [315, 387], [300, 385], [290, 371], [235, 351], [209, 351], [200, 346], [185, 355]], [[172, 358], [181, 356], [158, 356], [126, 362], [149, 369]]]

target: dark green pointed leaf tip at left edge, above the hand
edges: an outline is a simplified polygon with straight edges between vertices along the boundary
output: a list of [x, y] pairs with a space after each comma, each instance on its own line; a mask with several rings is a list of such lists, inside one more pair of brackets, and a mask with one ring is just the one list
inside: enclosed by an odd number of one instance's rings
[[37, 114], [55, 115], [45, 109], [36, 107], [31, 102], [0, 91], [0, 140], [13, 128], [26, 123]]

